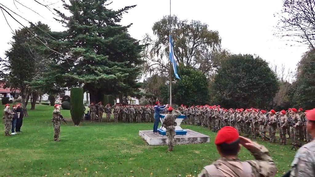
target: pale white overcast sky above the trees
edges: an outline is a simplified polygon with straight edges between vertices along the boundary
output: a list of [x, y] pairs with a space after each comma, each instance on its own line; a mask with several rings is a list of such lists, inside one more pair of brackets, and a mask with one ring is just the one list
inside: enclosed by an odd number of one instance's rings
[[[42, 21], [48, 24], [52, 31], [65, 29], [53, 19], [56, 16], [45, 7], [33, 0], [19, 0], [19, 2], [44, 18], [15, 3], [20, 11], [17, 10], [13, 0], [2, 3], [29, 21], [34, 23]], [[46, 4], [53, 2], [55, 4], [51, 6], [52, 8], [64, 11], [60, 0], [40, 0], [39, 2], [46, 2]], [[154, 22], [164, 15], [169, 15], [169, 0], [114, 0], [110, 8], [120, 9], [128, 5], [137, 6], [128, 14], [124, 14], [122, 25], [133, 23], [129, 33], [139, 40], [146, 33], [152, 35], [151, 28]], [[210, 30], [219, 31], [222, 47], [234, 54], [256, 54], [271, 64], [285, 64], [287, 68], [295, 70], [296, 64], [301, 59], [301, 55], [307, 51], [307, 47], [273, 35], [276, 30], [274, 26], [278, 22], [274, 14], [282, 9], [282, 5], [282, 0], [172, 0], [172, 14], [180, 19], [200, 20], [208, 24]], [[21, 27], [9, 15], [6, 13], [5, 15], [13, 30]], [[23, 25], [27, 25], [25, 20], [17, 18], [23, 22]], [[11, 40], [12, 31], [2, 13], [0, 22], [2, 24], [0, 57], [5, 57], [4, 51], [10, 47], [8, 42]], [[291, 44], [294, 46], [290, 46]]]

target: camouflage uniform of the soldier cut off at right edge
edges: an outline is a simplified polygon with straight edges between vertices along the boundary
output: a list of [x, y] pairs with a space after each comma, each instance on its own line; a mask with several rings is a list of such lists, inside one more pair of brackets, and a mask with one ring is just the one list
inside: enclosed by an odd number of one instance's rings
[[290, 177], [313, 177], [315, 176], [315, 140], [303, 145], [296, 152], [291, 164]]

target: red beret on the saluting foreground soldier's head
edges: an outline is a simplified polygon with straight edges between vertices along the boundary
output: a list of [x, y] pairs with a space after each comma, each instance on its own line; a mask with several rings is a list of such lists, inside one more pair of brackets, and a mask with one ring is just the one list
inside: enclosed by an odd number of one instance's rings
[[238, 140], [238, 138], [239, 138], [239, 135], [238, 135], [237, 129], [226, 126], [226, 127], [221, 128], [218, 131], [215, 137], [215, 145], [220, 145], [222, 143], [230, 144]]

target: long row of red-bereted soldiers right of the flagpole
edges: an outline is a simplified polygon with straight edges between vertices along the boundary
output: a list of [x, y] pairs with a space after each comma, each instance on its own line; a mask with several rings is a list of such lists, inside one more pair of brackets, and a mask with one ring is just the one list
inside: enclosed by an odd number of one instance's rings
[[[276, 142], [275, 134], [279, 130], [280, 144], [286, 144], [286, 135], [289, 135], [293, 145], [300, 146], [301, 141], [311, 141], [312, 137], [306, 132], [306, 117], [302, 108], [287, 111], [269, 112], [259, 109], [224, 109], [220, 106], [191, 106], [181, 105], [179, 110], [187, 116], [188, 124], [201, 125], [213, 131], [222, 127], [231, 126], [239, 134], [252, 135], [253, 138], [261, 136], [262, 140], [269, 139]], [[269, 138], [266, 136], [268, 130]]]

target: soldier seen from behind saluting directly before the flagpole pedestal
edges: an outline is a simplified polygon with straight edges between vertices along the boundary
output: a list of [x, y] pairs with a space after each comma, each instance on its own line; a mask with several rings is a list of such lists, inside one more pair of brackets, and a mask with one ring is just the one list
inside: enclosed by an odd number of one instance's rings
[[181, 112], [173, 110], [172, 107], [169, 107], [167, 110], [168, 113], [164, 117], [163, 126], [166, 128], [168, 151], [173, 151], [175, 145], [175, 120], [181, 115]]

